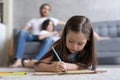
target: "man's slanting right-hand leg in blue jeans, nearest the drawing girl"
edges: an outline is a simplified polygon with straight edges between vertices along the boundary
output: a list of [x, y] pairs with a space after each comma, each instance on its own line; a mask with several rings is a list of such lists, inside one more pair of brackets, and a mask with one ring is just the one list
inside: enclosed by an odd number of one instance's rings
[[36, 54], [36, 56], [32, 60], [28, 59], [28, 60], [23, 61], [23, 64], [25, 67], [32, 68], [34, 63], [40, 60], [47, 53], [47, 51], [53, 44], [53, 40], [50, 37], [47, 37], [39, 42], [40, 42], [40, 49], [38, 53]]

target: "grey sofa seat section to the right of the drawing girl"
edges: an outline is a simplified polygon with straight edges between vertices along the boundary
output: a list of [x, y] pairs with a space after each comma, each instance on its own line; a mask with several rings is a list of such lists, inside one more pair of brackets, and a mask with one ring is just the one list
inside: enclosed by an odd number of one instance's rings
[[98, 57], [120, 57], [120, 38], [95, 42]]

